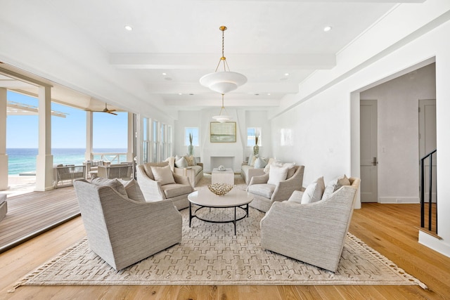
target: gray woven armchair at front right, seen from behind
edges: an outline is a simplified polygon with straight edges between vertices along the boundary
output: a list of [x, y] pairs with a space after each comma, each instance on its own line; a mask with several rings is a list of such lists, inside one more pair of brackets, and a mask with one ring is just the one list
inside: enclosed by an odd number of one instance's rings
[[261, 246], [335, 272], [352, 220], [360, 179], [349, 178], [349, 181], [351, 185], [342, 186], [318, 202], [274, 203], [261, 220]]

